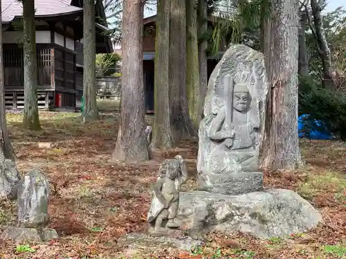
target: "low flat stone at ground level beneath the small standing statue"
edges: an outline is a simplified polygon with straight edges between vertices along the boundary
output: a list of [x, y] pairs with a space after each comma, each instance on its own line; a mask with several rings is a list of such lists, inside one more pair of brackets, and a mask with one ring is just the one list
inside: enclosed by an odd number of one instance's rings
[[118, 244], [120, 246], [128, 246], [130, 249], [158, 249], [158, 248], [172, 248], [191, 251], [192, 247], [201, 245], [202, 242], [193, 240], [190, 237], [183, 239], [164, 236], [154, 238], [144, 233], [130, 233], [127, 236], [119, 238]]

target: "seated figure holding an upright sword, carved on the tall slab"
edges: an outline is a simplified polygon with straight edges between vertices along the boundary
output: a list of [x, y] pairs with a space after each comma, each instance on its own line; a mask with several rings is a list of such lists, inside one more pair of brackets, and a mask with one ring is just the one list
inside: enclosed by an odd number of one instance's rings
[[217, 142], [208, 161], [210, 172], [221, 173], [228, 169], [233, 172], [257, 171], [255, 146], [260, 115], [255, 117], [248, 112], [251, 96], [247, 85], [235, 84], [233, 91], [226, 93], [225, 97], [231, 104], [223, 106], [210, 123], [210, 140]]

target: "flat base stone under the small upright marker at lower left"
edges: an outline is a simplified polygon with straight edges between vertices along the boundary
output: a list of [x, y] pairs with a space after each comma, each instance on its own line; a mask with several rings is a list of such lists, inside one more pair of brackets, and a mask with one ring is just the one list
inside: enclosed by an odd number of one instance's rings
[[28, 229], [24, 227], [8, 227], [2, 235], [2, 239], [12, 239], [15, 242], [44, 242], [58, 238], [55, 229]]

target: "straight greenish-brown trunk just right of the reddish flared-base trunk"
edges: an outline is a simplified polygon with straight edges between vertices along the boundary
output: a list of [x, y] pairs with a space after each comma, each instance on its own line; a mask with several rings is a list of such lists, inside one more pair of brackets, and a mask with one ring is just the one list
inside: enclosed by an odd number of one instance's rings
[[155, 45], [155, 116], [152, 147], [167, 149], [173, 146], [169, 95], [170, 0], [158, 1]]

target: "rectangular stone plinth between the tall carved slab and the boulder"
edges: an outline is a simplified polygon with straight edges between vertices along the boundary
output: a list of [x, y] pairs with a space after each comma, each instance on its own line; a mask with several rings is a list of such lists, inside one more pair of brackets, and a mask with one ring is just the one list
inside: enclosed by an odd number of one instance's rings
[[199, 180], [201, 191], [225, 195], [239, 195], [263, 190], [263, 173], [208, 174], [207, 181]]

